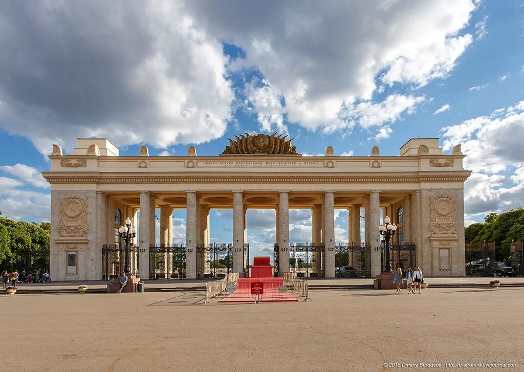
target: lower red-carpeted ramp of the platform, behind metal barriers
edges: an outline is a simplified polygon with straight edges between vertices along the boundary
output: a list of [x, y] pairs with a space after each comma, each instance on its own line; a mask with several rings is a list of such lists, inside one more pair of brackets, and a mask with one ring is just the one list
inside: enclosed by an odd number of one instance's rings
[[236, 290], [219, 302], [255, 302], [256, 294], [251, 294], [252, 283], [263, 283], [264, 293], [258, 295], [258, 302], [294, 302], [298, 301], [288, 292], [279, 292], [283, 287], [282, 278], [238, 278]]

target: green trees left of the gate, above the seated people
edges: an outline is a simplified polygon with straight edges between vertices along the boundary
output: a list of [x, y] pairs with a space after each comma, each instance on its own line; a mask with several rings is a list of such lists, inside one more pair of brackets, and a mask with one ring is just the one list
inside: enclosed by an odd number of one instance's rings
[[[0, 217], [0, 269], [47, 269], [50, 224]], [[46, 266], [46, 267], [41, 267]]]

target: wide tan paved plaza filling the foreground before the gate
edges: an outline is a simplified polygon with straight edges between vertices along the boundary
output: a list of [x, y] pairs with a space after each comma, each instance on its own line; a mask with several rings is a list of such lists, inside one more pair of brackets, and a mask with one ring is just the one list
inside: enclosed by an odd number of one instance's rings
[[[316, 290], [313, 302], [201, 304], [204, 293], [2, 295], [11, 371], [411, 370], [524, 366], [524, 288]], [[10, 348], [10, 346], [9, 346]], [[420, 369], [420, 368], [417, 368]], [[435, 368], [432, 368], [435, 369]], [[439, 368], [447, 370], [449, 368]], [[482, 370], [482, 368], [468, 368]]]

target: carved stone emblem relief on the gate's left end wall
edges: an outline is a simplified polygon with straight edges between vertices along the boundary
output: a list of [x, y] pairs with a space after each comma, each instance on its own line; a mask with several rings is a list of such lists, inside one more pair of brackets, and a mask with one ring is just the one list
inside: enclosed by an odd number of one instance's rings
[[88, 234], [88, 204], [86, 198], [71, 196], [60, 201], [60, 236], [86, 236]]

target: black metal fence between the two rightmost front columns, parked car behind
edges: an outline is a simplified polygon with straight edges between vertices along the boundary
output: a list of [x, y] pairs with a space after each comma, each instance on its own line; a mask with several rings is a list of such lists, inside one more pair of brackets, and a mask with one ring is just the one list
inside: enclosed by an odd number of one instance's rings
[[371, 247], [364, 243], [335, 243], [336, 277], [371, 277]]

